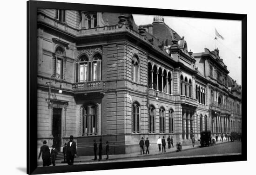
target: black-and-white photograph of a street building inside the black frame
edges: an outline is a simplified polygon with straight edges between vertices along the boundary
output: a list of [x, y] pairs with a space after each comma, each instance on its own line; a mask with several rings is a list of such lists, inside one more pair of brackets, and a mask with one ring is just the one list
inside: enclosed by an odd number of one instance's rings
[[241, 24], [38, 9], [38, 166], [240, 155]]

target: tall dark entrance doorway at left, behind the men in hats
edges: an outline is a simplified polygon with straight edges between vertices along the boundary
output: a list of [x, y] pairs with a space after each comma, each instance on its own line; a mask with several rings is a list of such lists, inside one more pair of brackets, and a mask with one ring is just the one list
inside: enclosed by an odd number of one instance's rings
[[53, 108], [53, 144], [58, 151], [61, 151], [61, 111], [61, 108]]

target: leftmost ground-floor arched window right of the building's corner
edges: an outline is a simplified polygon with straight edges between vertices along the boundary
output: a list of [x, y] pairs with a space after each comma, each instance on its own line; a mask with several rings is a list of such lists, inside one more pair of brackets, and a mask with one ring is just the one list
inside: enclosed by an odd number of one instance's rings
[[138, 103], [133, 103], [132, 105], [132, 131], [139, 133], [140, 132], [140, 112], [141, 108]]

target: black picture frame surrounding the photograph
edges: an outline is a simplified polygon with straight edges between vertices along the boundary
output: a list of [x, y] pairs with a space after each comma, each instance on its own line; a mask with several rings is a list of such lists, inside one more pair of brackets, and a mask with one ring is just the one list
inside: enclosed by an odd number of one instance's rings
[[[194, 157], [138, 162], [114, 162], [60, 167], [37, 167], [37, 8], [123, 12], [205, 19], [231, 19], [242, 21], [242, 154], [234, 156]], [[46, 174], [104, 169], [127, 169], [211, 162], [233, 162], [247, 160], [247, 15], [219, 12], [154, 9], [141, 7], [105, 6], [49, 1], [27, 1], [27, 174]]]

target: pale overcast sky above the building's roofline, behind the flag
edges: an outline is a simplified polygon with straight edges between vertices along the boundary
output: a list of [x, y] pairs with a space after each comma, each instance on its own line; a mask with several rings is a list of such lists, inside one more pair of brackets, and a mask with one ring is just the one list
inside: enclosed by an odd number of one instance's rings
[[[155, 16], [133, 15], [136, 25], [151, 24]], [[236, 20], [198, 19], [163, 16], [165, 24], [184, 36], [188, 44], [188, 50], [194, 53], [219, 49], [220, 57], [227, 65], [229, 76], [241, 84], [242, 79], [242, 23]], [[215, 28], [224, 38], [218, 38], [215, 42]]]

